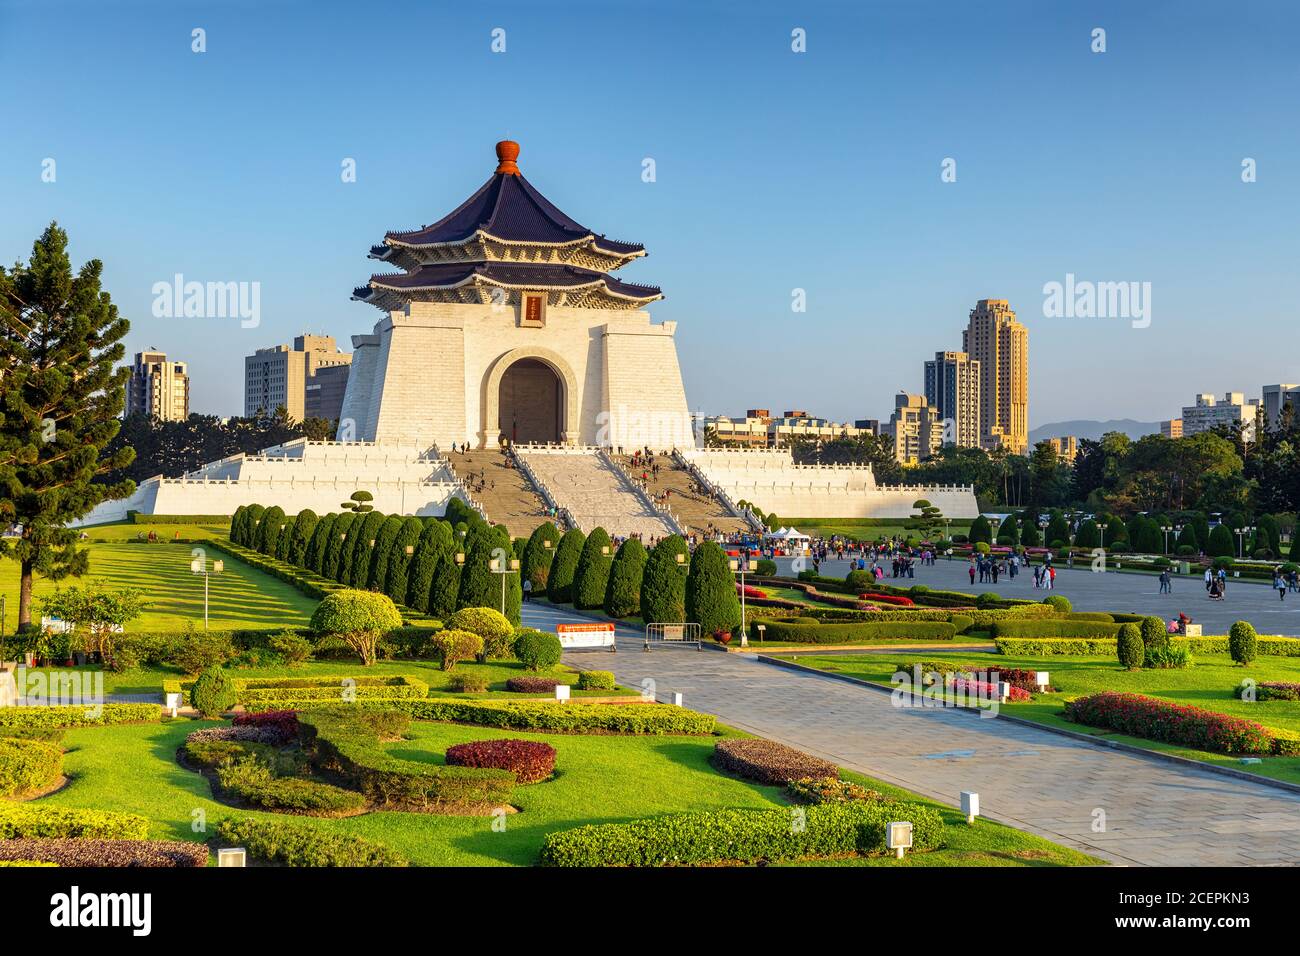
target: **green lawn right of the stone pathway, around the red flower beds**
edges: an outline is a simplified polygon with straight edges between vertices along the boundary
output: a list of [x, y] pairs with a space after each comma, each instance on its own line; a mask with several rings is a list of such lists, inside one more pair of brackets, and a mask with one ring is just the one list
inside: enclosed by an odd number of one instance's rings
[[1130, 737], [1105, 730], [1087, 727], [1065, 719], [1062, 708], [1071, 697], [1084, 697], [1101, 691], [1122, 693], [1141, 693], [1160, 697], [1175, 704], [1214, 710], [1222, 714], [1243, 717], [1265, 724], [1300, 732], [1300, 701], [1268, 701], [1247, 704], [1239, 700], [1234, 689], [1242, 680], [1282, 680], [1300, 683], [1300, 658], [1261, 657], [1249, 667], [1240, 667], [1227, 654], [1199, 654], [1191, 667], [1180, 670], [1140, 670], [1128, 671], [1109, 657], [1005, 657], [1002, 654], [959, 653], [959, 652], [892, 652], [887, 654], [844, 654], [812, 656], [800, 654], [784, 659], [819, 670], [845, 674], [848, 676], [888, 684], [894, 672], [894, 665], [924, 658], [927, 661], [953, 661], [970, 665], [976, 670], [1002, 667], [1023, 667], [1026, 670], [1045, 670], [1050, 675], [1054, 693], [1035, 695], [1026, 704], [1004, 704], [1002, 711], [1056, 727], [1065, 727], [1079, 734], [1088, 734], [1108, 740], [1119, 740], [1162, 753], [1175, 753], [1183, 757], [1232, 766], [1279, 780], [1300, 783], [1300, 757], [1265, 757], [1261, 763], [1242, 763], [1239, 758], [1219, 753], [1192, 750], [1184, 747], [1164, 744], [1154, 740]]

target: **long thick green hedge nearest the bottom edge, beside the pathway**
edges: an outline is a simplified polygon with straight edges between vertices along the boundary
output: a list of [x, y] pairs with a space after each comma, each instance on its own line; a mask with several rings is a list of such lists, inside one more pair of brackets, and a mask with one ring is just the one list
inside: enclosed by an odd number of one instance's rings
[[914, 851], [942, 845], [937, 810], [880, 800], [805, 808], [803, 826], [792, 826], [789, 810], [679, 813], [581, 826], [549, 834], [541, 861], [546, 866], [689, 866], [884, 853], [885, 827], [894, 821], [913, 825]]

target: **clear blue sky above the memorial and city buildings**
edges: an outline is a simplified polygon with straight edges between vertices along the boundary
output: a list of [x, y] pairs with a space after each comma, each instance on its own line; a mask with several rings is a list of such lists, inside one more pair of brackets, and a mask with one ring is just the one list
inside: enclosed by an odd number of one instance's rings
[[[0, 260], [57, 219], [127, 350], [239, 414], [242, 356], [369, 330], [369, 246], [510, 137], [562, 209], [645, 243], [620, 276], [663, 287], [693, 408], [888, 418], [1006, 298], [1031, 425], [1156, 420], [1300, 381], [1297, 48], [1287, 3], [0, 0]], [[176, 273], [260, 282], [260, 326], [153, 317]], [[1149, 328], [1044, 317], [1067, 273], [1150, 282]]]

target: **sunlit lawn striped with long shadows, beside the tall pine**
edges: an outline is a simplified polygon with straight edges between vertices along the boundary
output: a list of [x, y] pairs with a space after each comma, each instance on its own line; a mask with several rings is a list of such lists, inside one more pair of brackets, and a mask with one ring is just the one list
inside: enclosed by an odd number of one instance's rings
[[[114, 531], [140, 525], [101, 525]], [[159, 525], [168, 535], [166, 544], [126, 544], [91, 540], [84, 546], [90, 551], [90, 571], [81, 579], [65, 578], [62, 584], [86, 584], [91, 580], [110, 588], [140, 588], [152, 601], [133, 631], [179, 631], [186, 623], [203, 627], [203, 578], [190, 572], [188, 544], [172, 544], [172, 531], [186, 525]], [[311, 619], [316, 601], [304, 597], [296, 588], [240, 561], [216, 550], [208, 559], [225, 561], [225, 571], [209, 578], [209, 627], [261, 628], [302, 627]], [[55, 583], [36, 578], [36, 605], [32, 618], [40, 614], [39, 598], [55, 591]], [[5, 596], [6, 627], [12, 633], [18, 623], [18, 564], [0, 561], [0, 594]]]

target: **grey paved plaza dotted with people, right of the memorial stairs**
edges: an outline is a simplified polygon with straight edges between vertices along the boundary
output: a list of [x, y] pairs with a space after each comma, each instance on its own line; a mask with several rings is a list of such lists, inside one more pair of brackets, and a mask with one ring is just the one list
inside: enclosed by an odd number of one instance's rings
[[[1122, 562], [1122, 559], [1121, 559]], [[783, 575], [790, 574], [790, 559], [776, 562]], [[811, 562], [809, 563], [811, 567]], [[1234, 620], [1249, 620], [1260, 633], [1300, 635], [1300, 593], [1287, 594], [1278, 600], [1278, 592], [1268, 583], [1242, 581], [1228, 579], [1227, 592], [1222, 601], [1210, 601], [1205, 596], [1205, 585], [1199, 578], [1174, 578], [1174, 593], [1161, 594], [1156, 575], [1109, 572], [1097, 574], [1086, 567], [1066, 568], [1057, 566], [1054, 591], [1034, 587], [1034, 574], [1020, 571], [1015, 578], [1000, 576], [997, 584], [974, 587], [966, 571], [965, 561], [940, 559], [933, 567], [916, 566], [916, 576], [893, 579], [889, 564], [884, 563], [885, 584], [911, 587], [926, 584], [931, 588], [965, 591], [982, 594], [994, 591], [1002, 597], [1041, 600], [1050, 593], [1065, 594], [1076, 611], [1128, 611], [1136, 614], [1158, 614], [1169, 620], [1179, 611], [1201, 624], [1204, 633], [1227, 633]], [[849, 571], [848, 561], [822, 562], [822, 574], [831, 578], [844, 578]]]

